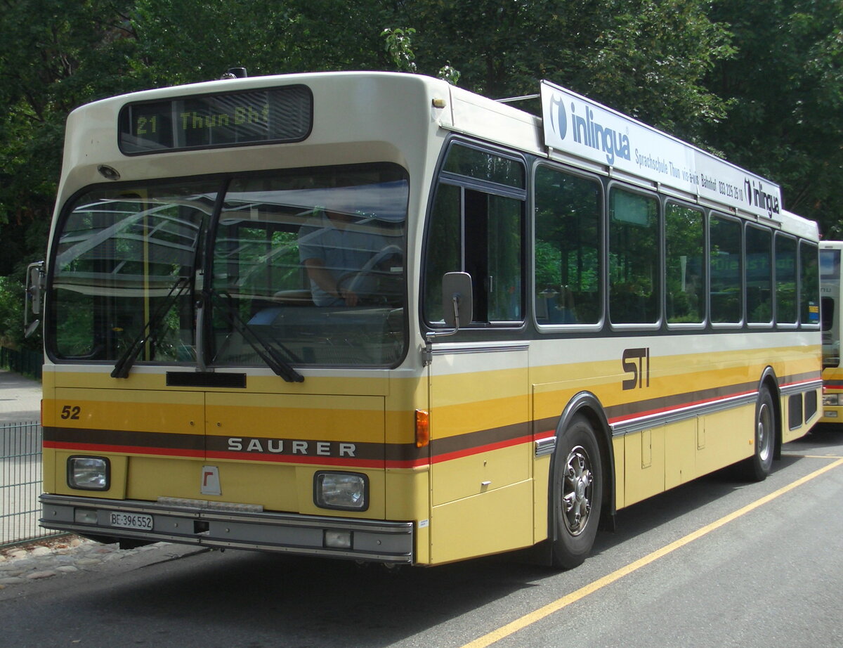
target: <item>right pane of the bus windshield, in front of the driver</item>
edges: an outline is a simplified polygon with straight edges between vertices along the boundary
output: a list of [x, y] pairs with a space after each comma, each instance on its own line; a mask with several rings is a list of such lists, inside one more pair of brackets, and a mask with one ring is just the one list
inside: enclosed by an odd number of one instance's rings
[[[405, 347], [407, 182], [392, 165], [235, 180], [214, 242], [212, 364], [260, 362], [217, 312], [303, 365], [395, 365]], [[352, 298], [353, 294], [353, 298]]]

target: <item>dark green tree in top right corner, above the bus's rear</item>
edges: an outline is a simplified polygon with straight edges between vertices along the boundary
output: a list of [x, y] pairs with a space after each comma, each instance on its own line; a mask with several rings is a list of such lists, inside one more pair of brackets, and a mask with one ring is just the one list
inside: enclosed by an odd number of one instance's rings
[[785, 206], [843, 228], [843, 2], [714, 3], [737, 55], [718, 62], [707, 86], [729, 101], [706, 138], [729, 159], [782, 186]]

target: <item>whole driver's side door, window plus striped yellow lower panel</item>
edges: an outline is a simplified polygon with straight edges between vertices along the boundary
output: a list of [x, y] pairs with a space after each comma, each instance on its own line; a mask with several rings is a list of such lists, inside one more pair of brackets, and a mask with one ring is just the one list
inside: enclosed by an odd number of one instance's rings
[[[529, 343], [517, 333], [524, 200], [516, 193], [442, 182], [429, 224], [432, 563], [533, 543]], [[456, 332], [454, 292], [463, 305]]]

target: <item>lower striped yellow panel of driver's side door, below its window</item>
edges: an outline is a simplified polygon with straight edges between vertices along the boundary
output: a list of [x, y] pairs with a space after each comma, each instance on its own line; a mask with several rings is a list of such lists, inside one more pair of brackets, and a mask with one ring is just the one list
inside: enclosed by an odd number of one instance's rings
[[433, 346], [431, 559], [533, 543], [526, 344]]

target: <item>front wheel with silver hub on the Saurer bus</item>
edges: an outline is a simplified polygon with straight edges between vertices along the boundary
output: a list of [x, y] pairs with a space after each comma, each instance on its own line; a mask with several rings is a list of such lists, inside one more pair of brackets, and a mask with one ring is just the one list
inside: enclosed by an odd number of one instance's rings
[[550, 483], [550, 520], [555, 567], [583, 563], [594, 543], [603, 504], [603, 462], [588, 419], [577, 414], [556, 440]]

